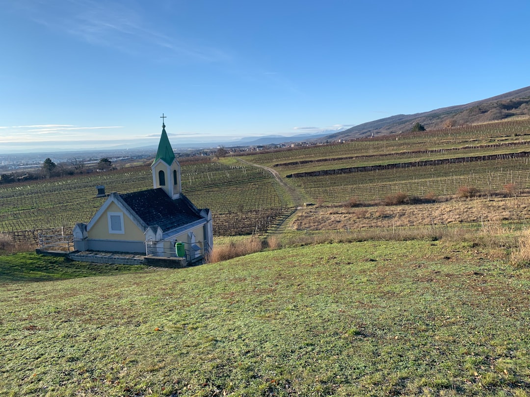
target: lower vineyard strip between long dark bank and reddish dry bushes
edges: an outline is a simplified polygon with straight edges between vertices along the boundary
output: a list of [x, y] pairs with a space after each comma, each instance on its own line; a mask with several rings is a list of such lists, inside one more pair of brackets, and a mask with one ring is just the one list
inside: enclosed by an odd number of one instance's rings
[[289, 181], [314, 201], [340, 203], [356, 197], [360, 202], [372, 202], [395, 193], [454, 195], [461, 186], [475, 187], [484, 193], [502, 191], [507, 184], [530, 187], [530, 163], [528, 158], [500, 159], [291, 178]]

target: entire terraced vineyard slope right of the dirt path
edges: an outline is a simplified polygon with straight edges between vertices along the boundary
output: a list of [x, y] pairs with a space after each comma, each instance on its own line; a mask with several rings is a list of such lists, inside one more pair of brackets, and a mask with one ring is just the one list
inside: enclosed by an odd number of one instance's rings
[[[310, 200], [338, 204], [352, 197], [373, 202], [400, 192], [453, 195], [463, 186], [485, 194], [501, 191], [507, 184], [523, 189], [530, 186], [529, 145], [530, 120], [525, 119], [271, 151], [245, 159], [277, 170]], [[493, 159], [470, 161], [476, 156]], [[458, 161], [450, 162], [456, 158]], [[422, 160], [449, 164], [409, 166]], [[388, 165], [393, 167], [347, 170]]]

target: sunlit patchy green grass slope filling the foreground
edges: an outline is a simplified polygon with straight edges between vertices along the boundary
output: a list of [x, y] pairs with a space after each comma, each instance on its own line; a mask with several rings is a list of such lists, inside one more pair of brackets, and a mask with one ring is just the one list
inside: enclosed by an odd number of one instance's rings
[[528, 395], [530, 269], [366, 241], [0, 290], [0, 395]]

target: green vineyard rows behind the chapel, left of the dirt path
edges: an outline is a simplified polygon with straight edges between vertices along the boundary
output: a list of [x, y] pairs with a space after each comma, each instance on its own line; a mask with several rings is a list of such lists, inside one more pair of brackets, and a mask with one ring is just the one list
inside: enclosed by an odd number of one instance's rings
[[[96, 185], [105, 185], [107, 193], [129, 193], [152, 188], [153, 179], [150, 168], [139, 167], [4, 185], [0, 188], [0, 232], [71, 228], [77, 222], [88, 222], [105, 200], [95, 197]], [[209, 207], [214, 218], [245, 211], [263, 211], [267, 218], [290, 205], [288, 195], [275, 179], [252, 166], [184, 165], [182, 191], [197, 206]]]

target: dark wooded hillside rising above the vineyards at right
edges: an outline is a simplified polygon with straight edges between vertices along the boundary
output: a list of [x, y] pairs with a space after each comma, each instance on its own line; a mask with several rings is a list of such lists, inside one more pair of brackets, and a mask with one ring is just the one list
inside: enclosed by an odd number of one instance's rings
[[423, 113], [397, 114], [369, 121], [325, 136], [319, 141], [369, 137], [372, 133], [377, 136], [410, 131], [416, 122], [423, 124], [428, 130], [433, 130], [504, 120], [514, 116], [530, 116], [530, 86], [465, 105], [442, 107]]

